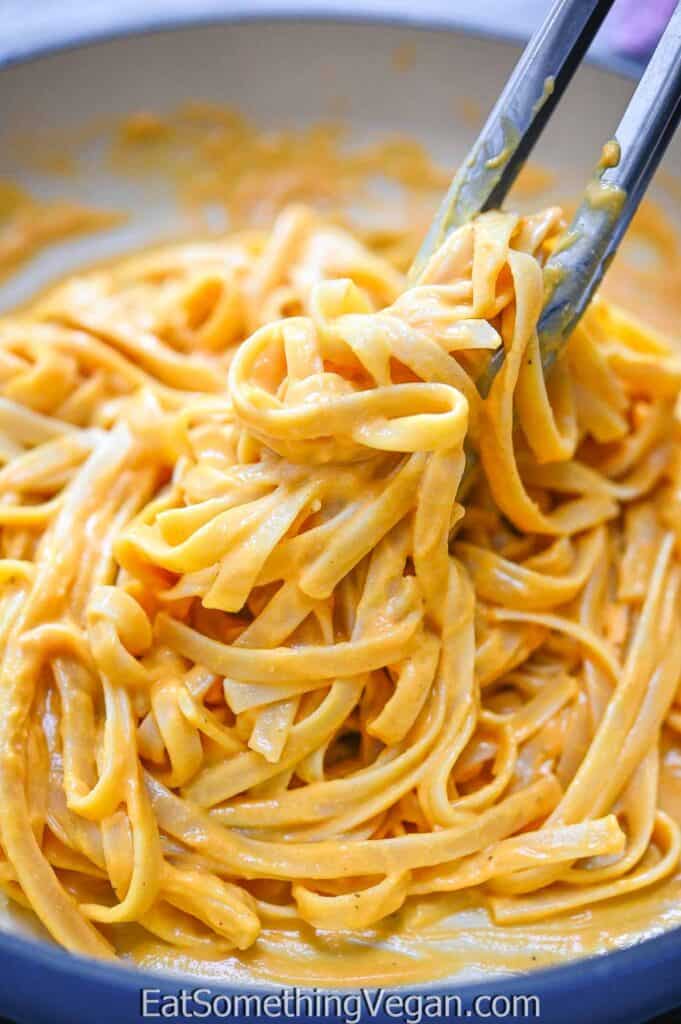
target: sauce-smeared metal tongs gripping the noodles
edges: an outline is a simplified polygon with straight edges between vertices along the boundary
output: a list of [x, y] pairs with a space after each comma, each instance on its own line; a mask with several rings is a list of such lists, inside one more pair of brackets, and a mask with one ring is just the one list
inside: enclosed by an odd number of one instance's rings
[[[646, 0], [642, 0], [646, 2]], [[527, 44], [468, 158], [455, 175], [412, 267], [418, 281], [456, 227], [501, 207], [613, 0], [556, 0]], [[547, 260], [539, 323], [544, 372], [553, 366], [638, 208], [681, 117], [681, 0], [564, 237]], [[485, 397], [498, 349], [477, 381]]]

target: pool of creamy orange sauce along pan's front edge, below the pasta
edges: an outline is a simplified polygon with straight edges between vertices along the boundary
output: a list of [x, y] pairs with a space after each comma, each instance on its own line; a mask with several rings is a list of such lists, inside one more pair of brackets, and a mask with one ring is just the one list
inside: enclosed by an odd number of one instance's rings
[[[681, 757], [668, 750], [661, 806], [681, 822]], [[595, 904], [529, 926], [495, 925], [464, 893], [412, 900], [381, 927], [361, 934], [320, 935], [306, 926], [265, 929], [246, 953], [206, 961], [169, 953], [134, 927], [117, 946], [141, 967], [215, 980], [276, 980], [291, 984], [418, 984], [460, 976], [514, 974], [621, 949], [681, 925], [681, 872], [633, 897]]]

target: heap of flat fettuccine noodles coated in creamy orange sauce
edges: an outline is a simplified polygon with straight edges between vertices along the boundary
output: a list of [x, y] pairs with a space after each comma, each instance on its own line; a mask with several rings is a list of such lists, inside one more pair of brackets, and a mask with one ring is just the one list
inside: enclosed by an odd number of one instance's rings
[[545, 381], [562, 228], [408, 288], [292, 206], [0, 322], [0, 886], [65, 947], [673, 876], [681, 358], [599, 299]]

